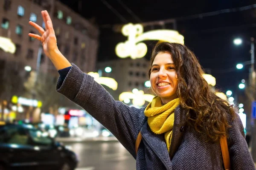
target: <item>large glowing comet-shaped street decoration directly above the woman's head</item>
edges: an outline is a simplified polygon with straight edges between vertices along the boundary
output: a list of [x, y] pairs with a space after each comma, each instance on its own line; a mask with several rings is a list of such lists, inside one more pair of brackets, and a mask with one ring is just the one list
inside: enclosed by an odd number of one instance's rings
[[122, 27], [122, 34], [128, 37], [128, 40], [116, 45], [116, 55], [120, 58], [144, 57], [147, 53], [147, 45], [142, 41], [145, 40], [162, 40], [184, 44], [184, 37], [175, 30], [160, 29], [143, 33], [141, 24], [128, 23]]

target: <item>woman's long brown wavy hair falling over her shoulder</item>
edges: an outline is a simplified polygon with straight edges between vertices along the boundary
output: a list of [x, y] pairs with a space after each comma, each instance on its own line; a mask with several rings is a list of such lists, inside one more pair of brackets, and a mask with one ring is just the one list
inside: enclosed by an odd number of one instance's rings
[[[151, 54], [151, 65], [160, 52], [171, 54], [175, 64], [180, 105], [186, 110], [186, 122], [192, 130], [206, 136], [207, 141], [216, 142], [221, 136], [228, 136], [228, 117], [236, 116], [235, 108], [215, 95], [215, 91], [204, 79], [195, 54], [185, 45], [158, 42]], [[148, 72], [149, 77], [151, 68]]]

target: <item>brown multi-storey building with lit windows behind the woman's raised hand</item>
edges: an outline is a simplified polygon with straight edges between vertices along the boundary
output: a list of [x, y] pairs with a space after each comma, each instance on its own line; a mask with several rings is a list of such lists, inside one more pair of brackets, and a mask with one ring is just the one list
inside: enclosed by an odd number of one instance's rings
[[[1, 115], [9, 114], [9, 111], [3, 112], [7, 106], [13, 105], [11, 98], [14, 95], [28, 100], [40, 100], [46, 109], [55, 107], [58, 103], [66, 107], [67, 104], [72, 104], [55, 91], [59, 74], [45, 56], [41, 42], [28, 36], [29, 33], [38, 34], [38, 31], [29, 25], [30, 20], [45, 28], [41, 17], [42, 10], [47, 10], [51, 16], [61, 53], [82, 71], [95, 71], [99, 46], [99, 28], [95, 24], [58, 0], [0, 0]], [[14, 54], [5, 51], [5, 38], [15, 44]], [[35, 83], [38, 80], [35, 73], [42, 74], [38, 84]], [[5, 102], [7, 104], [3, 106]], [[37, 107], [23, 106], [23, 108], [21, 113], [16, 114], [17, 119], [33, 117], [31, 115], [35, 115]], [[4, 116], [0, 117], [3, 119]]]

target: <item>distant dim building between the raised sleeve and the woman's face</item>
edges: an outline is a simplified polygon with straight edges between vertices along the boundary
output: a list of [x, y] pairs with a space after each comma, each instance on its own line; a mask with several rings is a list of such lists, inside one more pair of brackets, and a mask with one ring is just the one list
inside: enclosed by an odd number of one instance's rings
[[[111, 68], [110, 73], [105, 71], [106, 67]], [[149, 88], [145, 86], [145, 82], [149, 80], [150, 62], [144, 57], [140, 59], [125, 58], [98, 62], [96, 68], [101, 77], [111, 77], [118, 83], [116, 91], [104, 86], [116, 100], [119, 100], [119, 95], [122, 92], [132, 92], [133, 89], [142, 90], [144, 94], [151, 94]], [[132, 100], [127, 104], [132, 105]], [[145, 102], [145, 105], [147, 104], [148, 102]]]

